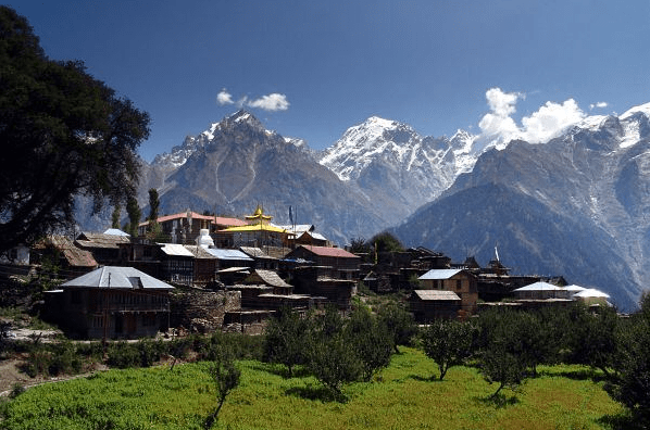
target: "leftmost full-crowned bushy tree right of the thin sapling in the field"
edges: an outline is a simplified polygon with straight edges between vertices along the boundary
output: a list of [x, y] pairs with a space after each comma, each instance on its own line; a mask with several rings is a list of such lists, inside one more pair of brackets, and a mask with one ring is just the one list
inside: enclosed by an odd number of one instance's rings
[[264, 359], [287, 366], [289, 377], [293, 367], [307, 362], [310, 319], [301, 318], [289, 306], [280, 307], [265, 330]]

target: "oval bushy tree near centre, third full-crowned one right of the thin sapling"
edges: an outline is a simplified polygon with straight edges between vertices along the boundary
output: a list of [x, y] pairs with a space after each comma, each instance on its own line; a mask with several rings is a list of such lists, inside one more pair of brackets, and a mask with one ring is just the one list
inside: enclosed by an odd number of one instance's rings
[[346, 324], [345, 339], [362, 365], [362, 379], [370, 381], [379, 369], [390, 364], [392, 337], [378, 324], [366, 307], [358, 307]]

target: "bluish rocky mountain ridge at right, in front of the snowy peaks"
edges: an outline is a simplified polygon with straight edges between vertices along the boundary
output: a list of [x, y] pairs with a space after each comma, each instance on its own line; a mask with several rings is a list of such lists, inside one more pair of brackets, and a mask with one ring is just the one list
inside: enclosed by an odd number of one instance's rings
[[565, 275], [629, 308], [650, 279], [648, 210], [650, 104], [489, 150], [395, 231], [455, 258], [487, 261], [498, 244], [520, 271]]

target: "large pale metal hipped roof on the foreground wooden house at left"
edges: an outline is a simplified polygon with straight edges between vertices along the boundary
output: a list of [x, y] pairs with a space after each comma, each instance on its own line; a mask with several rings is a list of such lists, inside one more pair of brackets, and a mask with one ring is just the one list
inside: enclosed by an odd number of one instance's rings
[[145, 290], [173, 290], [174, 287], [165, 283], [152, 276], [147, 275], [134, 267], [104, 266], [79, 276], [61, 286], [70, 287], [89, 287], [89, 288], [128, 288]]

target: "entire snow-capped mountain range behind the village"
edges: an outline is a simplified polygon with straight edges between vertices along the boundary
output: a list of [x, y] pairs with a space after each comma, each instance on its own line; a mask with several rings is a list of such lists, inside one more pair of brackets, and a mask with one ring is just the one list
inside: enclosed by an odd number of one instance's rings
[[625, 308], [650, 279], [649, 118], [650, 103], [529, 143], [423, 137], [371, 117], [315, 151], [239, 111], [142, 161], [139, 202], [157, 188], [161, 213], [242, 216], [262, 204], [277, 224], [291, 206], [339, 244], [392, 226], [404, 244], [454, 261], [488, 261], [497, 246], [516, 273], [564, 275]]

